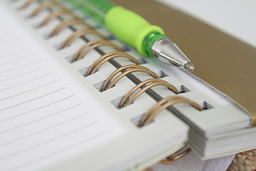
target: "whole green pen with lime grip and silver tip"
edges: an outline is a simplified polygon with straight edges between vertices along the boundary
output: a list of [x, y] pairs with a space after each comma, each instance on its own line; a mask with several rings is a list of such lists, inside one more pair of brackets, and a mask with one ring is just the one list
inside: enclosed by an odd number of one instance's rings
[[159, 26], [149, 24], [142, 16], [106, 0], [75, 0], [75, 3], [102, 21], [120, 40], [137, 48], [142, 55], [194, 71], [191, 61], [164, 35], [164, 31]]

